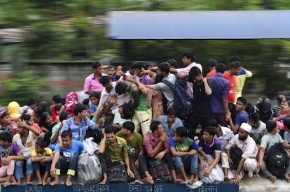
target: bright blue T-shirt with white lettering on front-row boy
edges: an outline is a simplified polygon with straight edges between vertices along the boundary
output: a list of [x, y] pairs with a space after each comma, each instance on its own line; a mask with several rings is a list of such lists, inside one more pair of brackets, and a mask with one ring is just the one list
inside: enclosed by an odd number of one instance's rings
[[78, 156], [80, 152], [83, 150], [83, 142], [78, 140], [71, 140], [71, 149], [64, 148], [64, 150], [60, 149], [60, 144], [58, 143], [55, 146], [55, 152], [60, 152], [60, 155], [64, 157], [64, 159], [69, 162], [71, 156]]

